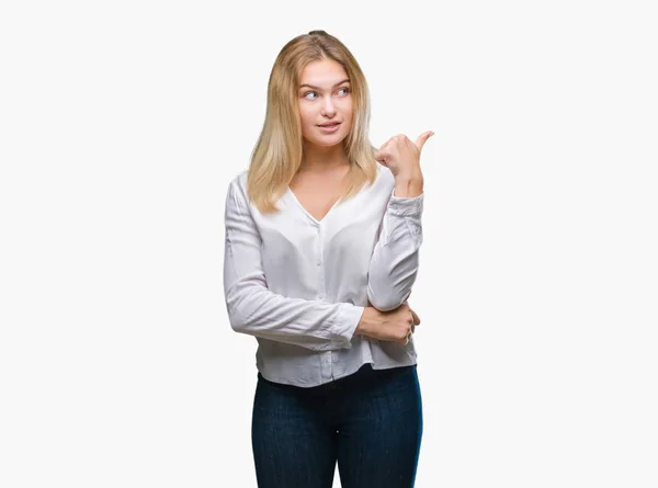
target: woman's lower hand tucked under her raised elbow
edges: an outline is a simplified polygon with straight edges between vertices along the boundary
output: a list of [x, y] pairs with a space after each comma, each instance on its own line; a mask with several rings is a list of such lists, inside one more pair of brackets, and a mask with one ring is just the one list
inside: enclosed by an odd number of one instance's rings
[[406, 303], [388, 311], [365, 307], [354, 333], [406, 345], [418, 325], [420, 317]]

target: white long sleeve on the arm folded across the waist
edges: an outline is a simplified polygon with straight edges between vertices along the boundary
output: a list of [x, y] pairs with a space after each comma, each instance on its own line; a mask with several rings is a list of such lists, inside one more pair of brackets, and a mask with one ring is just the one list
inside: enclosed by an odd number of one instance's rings
[[284, 297], [268, 288], [261, 236], [237, 180], [228, 189], [225, 226], [224, 293], [236, 332], [314, 351], [352, 348], [365, 307]]

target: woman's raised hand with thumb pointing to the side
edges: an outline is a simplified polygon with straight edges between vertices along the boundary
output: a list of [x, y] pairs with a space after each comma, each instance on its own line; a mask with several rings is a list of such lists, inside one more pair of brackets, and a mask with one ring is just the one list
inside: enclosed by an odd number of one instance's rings
[[388, 168], [396, 179], [398, 177], [417, 178], [422, 174], [420, 171], [420, 151], [426, 141], [433, 135], [432, 130], [422, 133], [416, 143], [412, 143], [404, 134], [393, 136], [375, 152], [375, 159], [378, 163]]

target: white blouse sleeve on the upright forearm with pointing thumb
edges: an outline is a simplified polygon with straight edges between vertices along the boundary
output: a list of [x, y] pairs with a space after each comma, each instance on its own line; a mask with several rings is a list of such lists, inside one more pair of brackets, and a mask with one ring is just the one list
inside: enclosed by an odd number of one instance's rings
[[411, 294], [422, 243], [424, 193], [402, 197], [394, 192], [368, 268], [367, 297], [382, 311], [399, 307]]

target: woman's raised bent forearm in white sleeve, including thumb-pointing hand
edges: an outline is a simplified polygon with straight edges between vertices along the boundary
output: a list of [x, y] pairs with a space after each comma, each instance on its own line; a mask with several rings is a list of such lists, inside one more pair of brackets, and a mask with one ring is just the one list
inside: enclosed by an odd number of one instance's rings
[[367, 297], [382, 311], [404, 304], [418, 275], [424, 197], [420, 150], [431, 135], [422, 134], [416, 144], [404, 135], [395, 136], [375, 155], [395, 177], [368, 268]]

